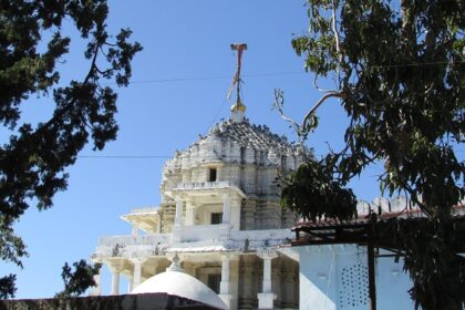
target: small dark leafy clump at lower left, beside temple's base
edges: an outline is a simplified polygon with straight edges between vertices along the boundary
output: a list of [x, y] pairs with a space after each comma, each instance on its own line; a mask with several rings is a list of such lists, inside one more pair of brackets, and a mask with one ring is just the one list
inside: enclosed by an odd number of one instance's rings
[[64, 282], [64, 290], [56, 293], [59, 298], [78, 297], [84, 293], [90, 287], [95, 286], [94, 276], [100, 273], [101, 265], [91, 266], [84, 259], [73, 262], [74, 271], [64, 264], [61, 278]]

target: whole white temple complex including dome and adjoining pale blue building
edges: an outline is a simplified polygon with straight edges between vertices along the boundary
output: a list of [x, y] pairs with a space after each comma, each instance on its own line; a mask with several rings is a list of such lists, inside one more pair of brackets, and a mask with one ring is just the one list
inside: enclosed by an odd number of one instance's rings
[[[366, 235], [369, 214], [418, 218], [421, 210], [405, 197], [360, 200], [359, 218], [341, 226], [299, 223], [281, 208], [277, 177], [312, 154], [247, 120], [239, 95], [247, 45], [231, 48], [238, 68], [230, 116], [176, 152], [163, 167], [159, 206], [122, 216], [132, 234], [102, 237], [91, 256], [111, 270], [111, 294], [162, 293], [209, 309], [413, 308], [403, 259], [350, 237]], [[311, 238], [299, 237], [303, 232]], [[121, 277], [130, 283], [125, 292]], [[100, 276], [95, 280], [92, 294], [99, 296]]]

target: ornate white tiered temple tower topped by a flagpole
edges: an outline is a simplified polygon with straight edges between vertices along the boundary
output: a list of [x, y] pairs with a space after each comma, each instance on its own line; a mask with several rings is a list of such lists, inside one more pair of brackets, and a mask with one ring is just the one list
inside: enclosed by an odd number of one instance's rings
[[[298, 262], [276, 250], [290, 242], [297, 218], [281, 208], [276, 178], [309, 154], [245, 117], [239, 87], [246, 45], [232, 48], [238, 70], [230, 117], [167, 161], [159, 206], [124, 215], [132, 235], [101, 238], [92, 256], [112, 271], [112, 294], [120, 293], [121, 276], [127, 277], [130, 291], [141, 291], [154, 276], [179, 273], [165, 271], [176, 258], [175, 269], [208, 287], [227, 309], [299, 307]], [[162, 286], [175, 285], [163, 277]], [[179, 283], [176, 290], [187, 288]], [[214, 299], [200, 301], [218, 304]]]

